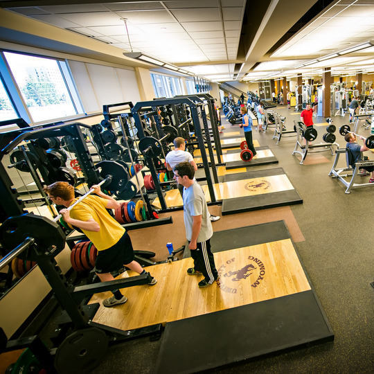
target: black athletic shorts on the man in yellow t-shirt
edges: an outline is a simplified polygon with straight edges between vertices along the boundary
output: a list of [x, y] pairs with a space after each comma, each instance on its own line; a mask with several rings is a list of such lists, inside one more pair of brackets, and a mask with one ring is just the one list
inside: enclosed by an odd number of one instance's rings
[[134, 260], [134, 249], [130, 236], [125, 232], [114, 246], [98, 251], [95, 267], [96, 273], [105, 274], [121, 269], [123, 265], [130, 264]]

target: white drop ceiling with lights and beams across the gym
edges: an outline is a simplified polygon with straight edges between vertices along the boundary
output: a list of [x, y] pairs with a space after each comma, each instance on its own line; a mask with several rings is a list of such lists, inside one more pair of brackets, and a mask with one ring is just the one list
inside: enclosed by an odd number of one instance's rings
[[248, 27], [256, 17], [246, 0], [50, 3], [9, 0], [0, 1], [0, 6], [96, 39], [121, 53], [141, 51], [213, 81], [291, 78], [297, 73], [312, 77], [326, 67], [334, 75], [374, 72], [374, 46], [308, 64], [374, 40], [374, 0], [332, 1], [281, 45], [281, 37], [317, 0], [267, 0], [244, 53], [247, 34], [242, 25]]

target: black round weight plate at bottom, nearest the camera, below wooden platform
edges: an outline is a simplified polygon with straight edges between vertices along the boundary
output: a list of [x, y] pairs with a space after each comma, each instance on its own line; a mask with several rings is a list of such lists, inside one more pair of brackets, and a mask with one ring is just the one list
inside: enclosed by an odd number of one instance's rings
[[107, 353], [108, 338], [103, 330], [89, 327], [73, 332], [57, 348], [58, 373], [90, 373]]

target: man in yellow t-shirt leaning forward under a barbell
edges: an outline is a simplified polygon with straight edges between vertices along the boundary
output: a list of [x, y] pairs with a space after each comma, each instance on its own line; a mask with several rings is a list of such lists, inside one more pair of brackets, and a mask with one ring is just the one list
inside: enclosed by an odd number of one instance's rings
[[[123, 265], [132, 271], [143, 275], [146, 271], [139, 262], [134, 260], [134, 249], [129, 234], [114, 218], [109, 215], [107, 209], [116, 209], [121, 206], [113, 197], [106, 195], [100, 186], [92, 186], [96, 195], [89, 195], [79, 204], [71, 208], [61, 209], [59, 212], [64, 221], [78, 227], [84, 235], [93, 242], [98, 249], [96, 258], [96, 274], [100, 281], [114, 281], [111, 271], [121, 269]], [[77, 200], [74, 197], [74, 188], [67, 182], [58, 181], [44, 187], [48, 197], [56, 205], [68, 208]], [[157, 280], [152, 277], [149, 285], [155, 285]], [[105, 307], [123, 304], [127, 297], [120, 290], [113, 290], [113, 295], [103, 301]]]

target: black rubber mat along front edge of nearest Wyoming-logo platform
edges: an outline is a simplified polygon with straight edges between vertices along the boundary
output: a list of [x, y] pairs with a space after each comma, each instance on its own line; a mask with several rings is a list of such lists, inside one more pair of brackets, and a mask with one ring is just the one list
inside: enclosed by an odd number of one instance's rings
[[166, 324], [156, 373], [196, 373], [331, 341], [312, 290]]

